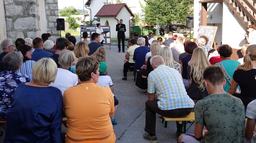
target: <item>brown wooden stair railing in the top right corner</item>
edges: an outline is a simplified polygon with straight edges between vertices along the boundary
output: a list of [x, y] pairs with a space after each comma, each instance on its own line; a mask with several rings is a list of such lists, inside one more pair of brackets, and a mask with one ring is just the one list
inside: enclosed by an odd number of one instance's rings
[[[246, 16], [249, 17], [250, 19], [249, 21], [251, 21], [252, 24], [256, 26], [256, 19], [254, 15], [251, 14], [239, 0], [232, 0], [232, 1], [234, 1], [242, 9], [242, 12], [244, 12]], [[251, 3], [248, 2], [248, 0], [242, 0], [242, 1], [246, 3], [248, 8], [250, 8], [253, 11], [253, 13], [256, 13], [256, 8], [253, 5], [251, 5]], [[253, 0], [253, 2], [256, 3], [256, 0]]]

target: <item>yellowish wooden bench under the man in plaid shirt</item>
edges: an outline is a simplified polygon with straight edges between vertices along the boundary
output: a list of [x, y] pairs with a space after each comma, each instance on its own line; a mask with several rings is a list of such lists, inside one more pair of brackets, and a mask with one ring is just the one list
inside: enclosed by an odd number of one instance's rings
[[[163, 117], [162, 119], [162, 124], [164, 126], [164, 128], [167, 128], [167, 122], [168, 121], [177, 121], [179, 124], [178, 124], [178, 136], [180, 136], [180, 128], [182, 127], [183, 125], [183, 133], [186, 133], [187, 130], [189, 130], [189, 128], [192, 126], [192, 124], [195, 122], [195, 113], [194, 112], [191, 112], [189, 115], [185, 116], [185, 117], [181, 117], [181, 118], [167, 118], [167, 117]], [[190, 124], [189, 128], [186, 127], [187, 123], [189, 121], [193, 121], [192, 124]], [[177, 136], [177, 137], [178, 137]]]

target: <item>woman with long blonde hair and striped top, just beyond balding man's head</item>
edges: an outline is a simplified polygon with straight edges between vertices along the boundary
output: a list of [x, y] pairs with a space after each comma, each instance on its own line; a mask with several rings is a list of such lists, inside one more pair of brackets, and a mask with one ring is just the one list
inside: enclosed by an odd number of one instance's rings
[[[163, 48], [161, 48], [160, 56], [163, 57], [165, 66], [181, 70], [182, 68], [181, 64], [174, 61], [173, 54], [171, 52], [171, 49], [168, 46], [164, 46]], [[178, 72], [181, 72], [181, 71], [178, 71]]]

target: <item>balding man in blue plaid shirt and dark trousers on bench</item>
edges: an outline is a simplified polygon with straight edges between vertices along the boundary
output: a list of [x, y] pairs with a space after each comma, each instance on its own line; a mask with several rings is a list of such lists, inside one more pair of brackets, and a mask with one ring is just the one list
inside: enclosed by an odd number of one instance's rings
[[151, 66], [154, 71], [148, 76], [146, 101], [146, 124], [143, 138], [151, 143], [157, 143], [156, 113], [169, 117], [185, 117], [190, 114], [194, 102], [186, 93], [182, 76], [178, 71], [165, 66], [161, 56], [152, 57]]

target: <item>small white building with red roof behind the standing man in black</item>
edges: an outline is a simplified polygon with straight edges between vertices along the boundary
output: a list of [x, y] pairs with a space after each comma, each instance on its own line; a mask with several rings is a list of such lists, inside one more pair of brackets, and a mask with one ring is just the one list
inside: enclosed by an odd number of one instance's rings
[[103, 5], [95, 17], [100, 17], [100, 24], [110, 26], [111, 38], [117, 39], [116, 24], [123, 19], [126, 26], [125, 37], [130, 37], [130, 20], [134, 17], [130, 8], [125, 3]]

